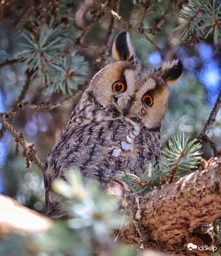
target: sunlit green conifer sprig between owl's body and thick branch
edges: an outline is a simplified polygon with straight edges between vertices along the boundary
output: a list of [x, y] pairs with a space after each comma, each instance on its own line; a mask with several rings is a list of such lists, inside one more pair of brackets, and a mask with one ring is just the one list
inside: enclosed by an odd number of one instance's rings
[[[196, 139], [188, 137], [173, 136], [168, 141], [168, 147], [162, 150], [162, 158], [158, 162], [149, 163], [147, 170], [140, 177], [126, 173], [118, 174], [116, 178], [130, 184], [131, 190], [138, 196], [144, 195], [166, 182], [171, 183], [173, 179], [180, 178], [196, 170], [200, 164], [201, 144], [196, 144]], [[159, 165], [161, 169], [159, 170]]]

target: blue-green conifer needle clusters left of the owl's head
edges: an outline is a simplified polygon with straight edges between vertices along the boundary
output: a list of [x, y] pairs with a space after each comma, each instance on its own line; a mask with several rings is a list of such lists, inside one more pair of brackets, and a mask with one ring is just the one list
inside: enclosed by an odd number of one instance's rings
[[41, 80], [46, 94], [59, 91], [72, 94], [71, 90], [87, 80], [88, 63], [76, 50], [59, 55], [71, 42], [70, 29], [54, 23], [52, 19], [49, 25], [41, 27], [38, 40], [31, 32], [24, 32], [25, 50], [17, 53], [17, 58], [25, 60], [27, 70]]

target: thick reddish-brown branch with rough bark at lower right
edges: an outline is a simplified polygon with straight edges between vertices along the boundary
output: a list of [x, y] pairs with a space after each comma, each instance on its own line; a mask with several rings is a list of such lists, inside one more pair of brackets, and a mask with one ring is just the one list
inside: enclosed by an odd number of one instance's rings
[[197, 247], [193, 254], [187, 249], [188, 243], [213, 245], [205, 225], [221, 216], [221, 159], [211, 158], [202, 166], [141, 197], [140, 210], [131, 202], [133, 221], [120, 230], [118, 240], [176, 255], [211, 253]]

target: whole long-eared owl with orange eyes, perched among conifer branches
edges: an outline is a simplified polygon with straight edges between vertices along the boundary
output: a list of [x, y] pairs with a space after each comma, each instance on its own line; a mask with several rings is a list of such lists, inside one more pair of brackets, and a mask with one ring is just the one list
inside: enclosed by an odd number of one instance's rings
[[129, 33], [112, 47], [113, 61], [100, 70], [71, 113], [44, 172], [48, 216], [62, 216], [52, 182], [65, 179], [73, 166], [101, 187], [119, 171], [137, 176], [160, 159], [161, 123], [168, 104], [168, 84], [182, 75], [180, 60], [145, 70], [134, 59]]

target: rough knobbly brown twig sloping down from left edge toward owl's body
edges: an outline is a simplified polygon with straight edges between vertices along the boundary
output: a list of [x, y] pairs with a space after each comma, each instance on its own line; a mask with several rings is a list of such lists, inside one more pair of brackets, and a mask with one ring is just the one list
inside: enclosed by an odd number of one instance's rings
[[[11, 124], [9, 124], [6, 119], [0, 116], [0, 123], [2, 126], [9, 131], [13, 137], [15, 138], [16, 144], [20, 144], [23, 147], [23, 153], [22, 155], [26, 157], [26, 165], [27, 168], [30, 169], [31, 162], [33, 161], [39, 169], [42, 171], [45, 170], [45, 165], [42, 163], [42, 161], [38, 158], [36, 151], [34, 149], [34, 143], [28, 143], [25, 141], [22, 134], [20, 134]], [[18, 145], [16, 146], [16, 150], [18, 148]]]

